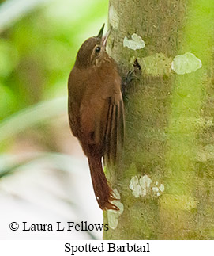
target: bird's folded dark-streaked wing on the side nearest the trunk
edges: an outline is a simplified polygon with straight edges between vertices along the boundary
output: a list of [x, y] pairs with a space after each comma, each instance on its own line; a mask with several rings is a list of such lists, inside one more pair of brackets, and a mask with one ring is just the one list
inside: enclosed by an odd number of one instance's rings
[[107, 124], [105, 132], [104, 162], [114, 165], [118, 160], [118, 151], [122, 150], [124, 141], [124, 107], [122, 94], [110, 97], [108, 103]]

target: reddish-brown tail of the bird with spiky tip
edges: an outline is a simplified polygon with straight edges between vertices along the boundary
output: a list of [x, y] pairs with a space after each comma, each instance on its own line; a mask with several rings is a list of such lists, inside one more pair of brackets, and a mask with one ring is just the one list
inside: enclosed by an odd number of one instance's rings
[[118, 210], [118, 207], [111, 203], [111, 201], [115, 200], [115, 197], [113, 196], [111, 188], [107, 184], [107, 178], [103, 172], [101, 158], [96, 156], [88, 157], [88, 163], [99, 208], [102, 210]]

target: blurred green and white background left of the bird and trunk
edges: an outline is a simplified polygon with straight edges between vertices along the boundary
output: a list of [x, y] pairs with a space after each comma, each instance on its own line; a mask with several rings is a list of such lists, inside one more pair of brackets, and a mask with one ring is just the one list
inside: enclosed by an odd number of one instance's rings
[[[45, 193], [52, 193], [54, 206], [51, 204], [50, 215], [53, 208], [63, 204], [76, 219], [81, 212], [83, 220], [90, 219], [90, 214], [95, 220], [96, 216], [102, 220], [92, 187], [92, 210], [82, 205], [86, 203], [84, 195], [77, 197], [78, 193], [85, 193], [78, 188], [77, 177], [85, 177], [85, 184], [91, 180], [87, 160], [69, 132], [66, 108], [67, 79], [77, 50], [107, 22], [107, 8], [107, 0], [0, 1], [0, 204], [7, 204], [1, 213], [3, 218], [10, 208], [16, 211], [17, 197], [28, 208], [35, 204], [32, 198], [37, 198], [37, 205], [45, 200]], [[38, 173], [40, 176], [35, 177]], [[45, 191], [52, 178], [58, 187]], [[26, 200], [32, 181], [37, 186]], [[47, 206], [50, 201], [43, 203]], [[36, 207], [38, 212], [43, 210], [40, 204]], [[84, 238], [100, 238], [100, 234], [88, 235]], [[0, 238], [11, 238], [7, 228], [0, 230]]]

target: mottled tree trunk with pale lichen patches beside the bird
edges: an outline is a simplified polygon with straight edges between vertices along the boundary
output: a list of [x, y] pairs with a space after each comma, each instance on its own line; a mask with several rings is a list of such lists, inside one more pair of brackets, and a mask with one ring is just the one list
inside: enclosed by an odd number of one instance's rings
[[213, 21], [213, 1], [110, 0], [108, 52], [123, 75], [137, 58], [141, 77], [103, 239], [214, 239]]

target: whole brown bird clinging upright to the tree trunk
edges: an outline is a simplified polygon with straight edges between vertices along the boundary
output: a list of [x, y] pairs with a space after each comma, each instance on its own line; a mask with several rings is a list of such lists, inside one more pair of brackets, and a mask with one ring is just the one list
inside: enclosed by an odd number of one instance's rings
[[124, 111], [121, 77], [115, 60], [106, 52], [111, 29], [103, 36], [85, 40], [77, 52], [70, 72], [69, 125], [73, 136], [81, 143], [92, 176], [92, 185], [99, 208], [118, 210], [103, 172], [102, 159], [114, 165], [121, 149], [124, 131]]

